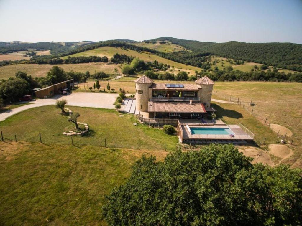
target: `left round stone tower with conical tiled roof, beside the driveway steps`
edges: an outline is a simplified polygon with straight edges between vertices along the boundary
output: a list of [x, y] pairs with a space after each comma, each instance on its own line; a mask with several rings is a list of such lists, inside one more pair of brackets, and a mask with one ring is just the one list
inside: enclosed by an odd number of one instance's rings
[[135, 81], [136, 110], [147, 112], [148, 101], [152, 98], [152, 83], [154, 82], [143, 75]]

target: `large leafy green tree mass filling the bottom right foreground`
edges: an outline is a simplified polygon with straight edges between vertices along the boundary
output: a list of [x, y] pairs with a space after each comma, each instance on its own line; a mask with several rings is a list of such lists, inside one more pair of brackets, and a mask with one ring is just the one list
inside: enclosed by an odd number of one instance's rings
[[301, 225], [302, 171], [250, 161], [233, 145], [142, 157], [103, 215], [109, 225]]

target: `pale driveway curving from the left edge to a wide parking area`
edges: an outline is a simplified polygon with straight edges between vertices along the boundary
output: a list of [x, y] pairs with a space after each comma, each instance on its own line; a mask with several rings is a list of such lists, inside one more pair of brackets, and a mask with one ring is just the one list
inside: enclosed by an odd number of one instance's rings
[[[109, 108], [114, 109], [113, 103], [115, 102], [118, 94], [106, 94], [106, 93], [72, 93], [66, 96], [54, 96], [49, 99], [37, 99], [31, 101], [28, 105], [14, 108], [12, 110], [0, 113], [0, 121], [7, 119], [9, 116], [17, 114], [21, 111], [33, 108], [41, 107], [45, 105], [54, 105], [56, 100], [66, 99], [68, 106], [79, 106], [79, 107], [97, 107], [97, 108]], [[27, 102], [24, 102], [27, 103]]]

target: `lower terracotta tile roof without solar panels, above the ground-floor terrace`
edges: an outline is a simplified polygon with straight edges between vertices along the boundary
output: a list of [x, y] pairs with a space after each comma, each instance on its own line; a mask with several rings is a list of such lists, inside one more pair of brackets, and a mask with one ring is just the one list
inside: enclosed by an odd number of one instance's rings
[[149, 101], [148, 112], [206, 113], [202, 103]]

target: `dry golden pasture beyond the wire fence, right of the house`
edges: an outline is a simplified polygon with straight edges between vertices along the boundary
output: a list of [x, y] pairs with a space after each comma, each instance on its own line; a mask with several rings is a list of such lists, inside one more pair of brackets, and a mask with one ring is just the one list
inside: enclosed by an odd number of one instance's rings
[[[240, 98], [242, 102], [248, 103], [251, 98], [256, 103], [255, 107], [245, 104], [248, 112], [253, 114], [264, 123], [275, 123], [287, 127], [293, 132], [289, 140], [294, 140], [294, 155], [288, 160], [293, 164], [300, 158], [302, 152], [302, 90], [300, 83], [294, 82], [216, 82], [213, 98], [224, 99], [232, 95], [233, 98]], [[264, 135], [265, 136], [265, 135]], [[302, 167], [301, 165], [298, 165]]]

